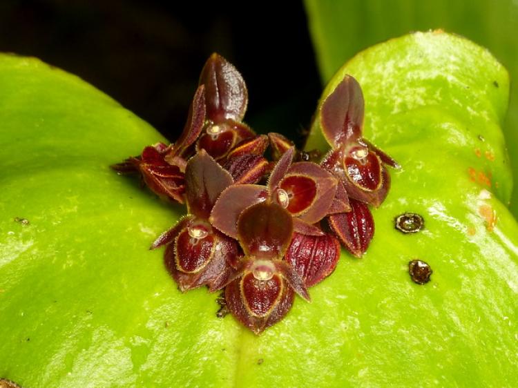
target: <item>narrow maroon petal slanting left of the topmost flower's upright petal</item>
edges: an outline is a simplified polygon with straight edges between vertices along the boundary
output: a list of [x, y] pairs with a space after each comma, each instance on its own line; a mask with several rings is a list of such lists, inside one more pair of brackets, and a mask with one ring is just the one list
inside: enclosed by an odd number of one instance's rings
[[171, 152], [166, 156], [166, 160], [183, 155], [191, 144], [194, 144], [205, 123], [205, 88], [203, 85], [198, 86], [198, 90], [193, 98], [191, 107], [189, 108], [189, 117], [184, 126], [184, 130], [178, 140], [175, 142]]

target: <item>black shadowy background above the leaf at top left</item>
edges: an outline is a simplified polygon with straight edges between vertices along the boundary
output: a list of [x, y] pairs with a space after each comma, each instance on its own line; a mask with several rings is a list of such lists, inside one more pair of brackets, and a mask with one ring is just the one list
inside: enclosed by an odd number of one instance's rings
[[219, 52], [247, 82], [245, 122], [300, 133], [321, 90], [303, 3], [251, 4], [245, 13], [216, 1], [0, 0], [0, 50], [79, 75], [171, 141]]

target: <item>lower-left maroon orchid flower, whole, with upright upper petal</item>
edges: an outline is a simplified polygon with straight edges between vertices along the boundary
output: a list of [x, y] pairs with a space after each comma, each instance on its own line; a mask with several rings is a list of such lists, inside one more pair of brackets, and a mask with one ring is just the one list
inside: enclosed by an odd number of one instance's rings
[[240, 254], [235, 240], [213, 228], [209, 215], [231, 175], [205, 151], [189, 159], [185, 170], [189, 214], [163, 233], [151, 249], [166, 245], [166, 267], [182, 291], [202, 285], [209, 291], [224, 287], [233, 270], [229, 263]]

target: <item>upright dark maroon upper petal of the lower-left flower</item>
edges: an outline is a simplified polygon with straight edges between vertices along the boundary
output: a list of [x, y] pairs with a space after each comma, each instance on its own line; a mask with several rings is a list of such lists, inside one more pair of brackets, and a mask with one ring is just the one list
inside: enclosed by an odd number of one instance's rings
[[202, 150], [189, 159], [185, 182], [189, 213], [208, 219], [222, 191], [232, 184], [232, 177]]

